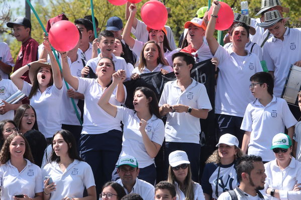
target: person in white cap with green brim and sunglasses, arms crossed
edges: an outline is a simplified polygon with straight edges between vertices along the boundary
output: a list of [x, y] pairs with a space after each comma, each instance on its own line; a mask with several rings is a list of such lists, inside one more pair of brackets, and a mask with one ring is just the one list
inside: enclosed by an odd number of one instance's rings
[[271, 149], [276, 159], [264, 164], [267, 177], [263, 193], [268, 199], [301, 199], [301, 162], [290, 155], [292, 146], [289, 136], [276, 134]]

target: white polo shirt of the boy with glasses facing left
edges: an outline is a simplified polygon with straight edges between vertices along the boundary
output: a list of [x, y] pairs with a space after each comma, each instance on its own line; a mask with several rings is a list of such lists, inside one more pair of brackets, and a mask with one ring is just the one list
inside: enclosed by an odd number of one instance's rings
[[284, 99], [273, 96], [265, 107], [258, 99], [249, 103], [240, 127], [251, 132], [248, 154], [261, 156], [263, 161], [273, 160], [272, 138], [284, 133], [284, 126], [289, 128], [296, 123]]

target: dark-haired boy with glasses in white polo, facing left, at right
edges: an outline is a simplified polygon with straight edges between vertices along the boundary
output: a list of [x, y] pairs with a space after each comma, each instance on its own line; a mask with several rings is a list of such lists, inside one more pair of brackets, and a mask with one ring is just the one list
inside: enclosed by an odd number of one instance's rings
[[262, 157], [263, 161], [274, 159], [269, 149], [270, 141], [267, 138], [284, 132], [292, 137], [296, 120], [291, 114], [284, 99], [273, 95], [273, 78], [267, 72], [259, 72], [251, 76], [250, 90], [255, 101], [247, 106], [241, 129], [245, 130], [242, 150], [251, 155]]

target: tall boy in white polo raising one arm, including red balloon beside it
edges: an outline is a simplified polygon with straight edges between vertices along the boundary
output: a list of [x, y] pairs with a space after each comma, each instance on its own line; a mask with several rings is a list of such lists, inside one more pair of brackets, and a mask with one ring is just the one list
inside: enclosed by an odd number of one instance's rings
[[238, 23], [233, 26], [230, 33], [232, 48], [224, 49], [215, 39], [217, 19], [219, 24], [225, 25], [228, 20], [229, 27], [232, 25], [234, 19], [232, 10], [232, 19], [220, 17], [230, 10], [231, 8], [223, 2], [215, 0], [212, 3], [206, 39], [211, 53], [220, 61], [215, 99], [215, 112], [219, 123], [218, 137], [231, 133], [242, 144], [244, 131], [240, 130], [240, 126], [244, 111], [248, 103], [255, 100], [249, 91], [249, 79], [253, 74], [261, 72], [262, 67], [258, 56], [245, 50], [246, 43], [249, 42], [250, 29], [245, 24]]

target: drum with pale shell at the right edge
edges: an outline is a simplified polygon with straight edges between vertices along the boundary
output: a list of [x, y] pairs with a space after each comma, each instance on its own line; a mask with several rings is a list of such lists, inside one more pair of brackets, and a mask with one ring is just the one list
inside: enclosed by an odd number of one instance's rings
[[298, 107], [298, 92], [301, 90], [301, 67], [291, 65], [281, 98], [285, 99], [288, 104]]

